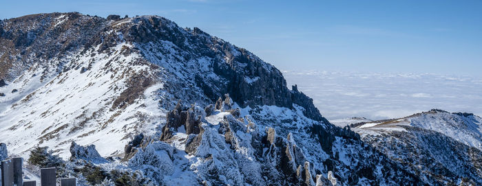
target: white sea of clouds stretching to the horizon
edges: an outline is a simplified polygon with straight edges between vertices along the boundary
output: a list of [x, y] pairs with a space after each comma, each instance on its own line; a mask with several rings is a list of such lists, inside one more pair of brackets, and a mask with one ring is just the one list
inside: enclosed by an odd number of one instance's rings
[[430, 73], [282, 71], [328, 119], [397, 118], [438, 108], [482, 116], [482, 78]]

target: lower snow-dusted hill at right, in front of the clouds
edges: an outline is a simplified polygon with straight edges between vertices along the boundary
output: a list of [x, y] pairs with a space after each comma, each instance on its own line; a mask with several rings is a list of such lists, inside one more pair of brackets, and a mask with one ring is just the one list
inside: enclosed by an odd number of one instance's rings
[[430, 185], [482, 184], [481, 117], [432, 110], [351, 124], [364, 141]]

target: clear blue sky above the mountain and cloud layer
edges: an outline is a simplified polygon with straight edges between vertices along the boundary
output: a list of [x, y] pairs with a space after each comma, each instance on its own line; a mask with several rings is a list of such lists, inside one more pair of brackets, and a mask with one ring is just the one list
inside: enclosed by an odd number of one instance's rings
[[482, 1], [5, 1], [39, 12], [157, 14], [279, 69], [480, 75]]

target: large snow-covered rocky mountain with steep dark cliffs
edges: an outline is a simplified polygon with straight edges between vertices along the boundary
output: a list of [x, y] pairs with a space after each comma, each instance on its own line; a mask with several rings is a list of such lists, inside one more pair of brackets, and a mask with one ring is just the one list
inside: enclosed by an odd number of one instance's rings
[[48, 146], [81, 184], [434, 183], [330, 124], [272, 65], [198, 28], [35, 14], [0, 21], [0, 43], [0, 142], [25, 159]]

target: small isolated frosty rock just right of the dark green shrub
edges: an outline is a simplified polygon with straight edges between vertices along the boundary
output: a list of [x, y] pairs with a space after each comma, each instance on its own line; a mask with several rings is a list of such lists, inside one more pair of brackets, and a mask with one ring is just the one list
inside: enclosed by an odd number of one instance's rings
[[70, 145], [70, 160], [71, 161], [76, 161], [76, 160], [84, 160], [87, 162], [92, 162], [92, 163], [105, 163], [107, 160], [105, 160], [101, 154], [98, 154], [96, 150], [96, 146], [90, 145], [90, 146], [79, 146], [77, 143], [72, 141]]

